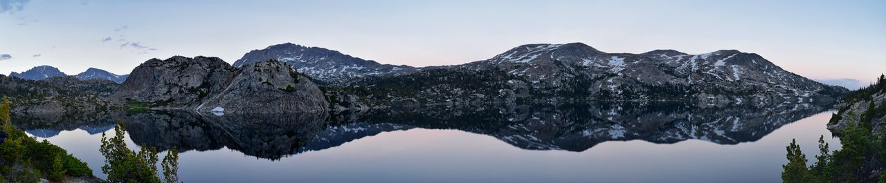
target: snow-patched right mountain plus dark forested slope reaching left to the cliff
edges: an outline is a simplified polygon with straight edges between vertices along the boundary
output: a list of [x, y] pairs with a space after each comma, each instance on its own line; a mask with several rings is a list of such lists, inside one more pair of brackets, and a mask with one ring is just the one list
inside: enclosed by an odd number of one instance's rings
[[[476, 83], [480, 80], [496, 84]], [[370, 102], [388, 102], [375, 103], [382, 106], [394, 106], [397, 101], [432, 104], [550, 100], [765, 106], [833, 103], [836, 97], [848, 92], [846, 88], [784, 71], [755, 53], [606, 53], [580, 42], [525, 44], [464, 65], [421, 67], [392, 76], [340, 80], [332, 82], [332, 86], [360, 93], [363, 98], [371, 98]], [[404, 86], [411, 87], [404, 91]], [[344, 104], [354, 106], [350, 102]]]

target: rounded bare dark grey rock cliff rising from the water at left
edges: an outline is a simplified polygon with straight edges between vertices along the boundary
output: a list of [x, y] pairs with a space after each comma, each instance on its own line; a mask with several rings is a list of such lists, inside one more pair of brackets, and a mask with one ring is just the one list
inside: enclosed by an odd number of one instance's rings
[[153, 109], [274, 113], [326, 111], [323, 92], [276, 61], [235, 68], [217, 57], [152, 59], [136, 67], [113, 98]]

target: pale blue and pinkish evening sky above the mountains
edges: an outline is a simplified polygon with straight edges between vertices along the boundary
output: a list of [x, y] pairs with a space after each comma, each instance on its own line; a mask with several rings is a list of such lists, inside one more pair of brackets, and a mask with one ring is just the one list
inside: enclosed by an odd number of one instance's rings
[[175, 55], [233, 63], [283, 42], [394, 65], [456, 65], [520, 44], [584, 42], [606, 52], [742, 50], [813, 79], [867, 82], [886, 72], [882, 0], [0, 0], [0, 33], [3, 74], [36, 65], [128, 73]]

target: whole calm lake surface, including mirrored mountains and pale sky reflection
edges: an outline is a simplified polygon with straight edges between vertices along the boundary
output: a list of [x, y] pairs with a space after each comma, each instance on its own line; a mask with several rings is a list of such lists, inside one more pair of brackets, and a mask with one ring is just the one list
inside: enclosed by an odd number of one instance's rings
[[[827, 108], [472, 107], [347, 114], [16, 117], [101, 172], [103, 132], [178, 147], [185, 182], [781, 182], [791, 139], [817, 155]], [[160, 156], [165, 155], [161, 153]]]

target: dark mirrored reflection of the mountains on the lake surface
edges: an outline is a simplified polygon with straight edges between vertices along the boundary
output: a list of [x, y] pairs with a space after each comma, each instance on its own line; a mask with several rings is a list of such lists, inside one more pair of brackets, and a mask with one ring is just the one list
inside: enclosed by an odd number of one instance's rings
[[108, 112], [14, 119], [28, 133], [42, 138], [77, 128], [101, 133], [112, 129], [113, 122], [120, 119], [136, 144], [160, 150], [228, 148], [274, 160], [412, 128], [486, 134], [532, 150], [585, 151], [604, 141], [631, 140], [674, 143], [696, 139], [737, 144], [758, 141], [781, 126], [826, 110], [811, 105], [694, 108], [680, 104], [573, 104], [224, 116], [184, 111]]

